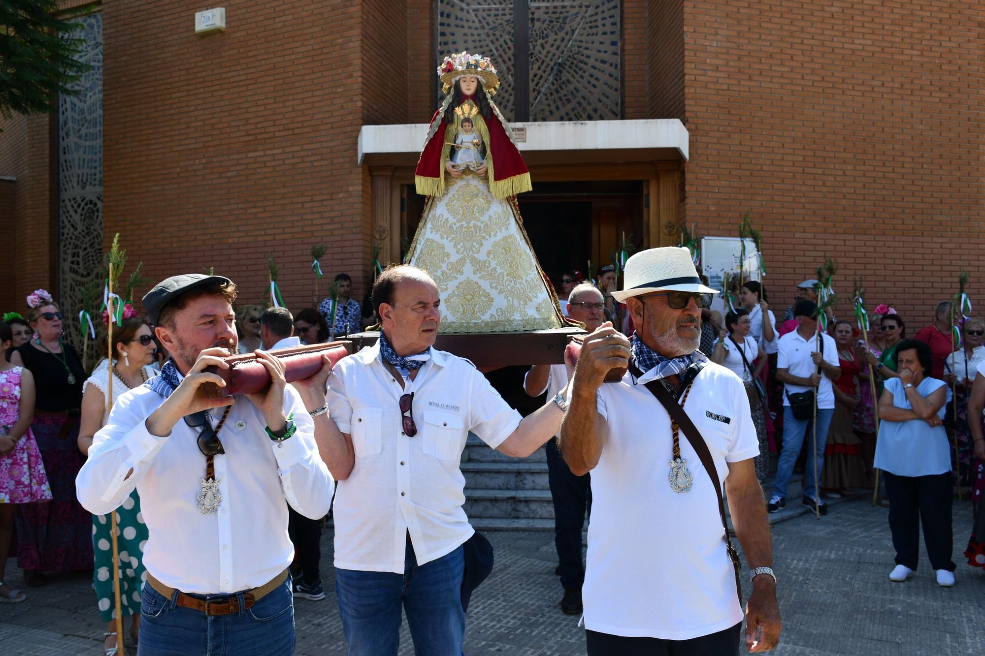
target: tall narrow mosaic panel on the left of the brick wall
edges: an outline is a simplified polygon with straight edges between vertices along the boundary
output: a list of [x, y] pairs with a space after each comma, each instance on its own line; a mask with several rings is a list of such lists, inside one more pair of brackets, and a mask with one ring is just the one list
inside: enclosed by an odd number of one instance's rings
[[[102, 15], [78, 19], [84, 39], [79, 59], [92, 68], [71, 85], [78, 96], [58, 98], [57, 300], [65, 337], [82, 346], [82, 288], [102, 266]], [[95, 308], [89, 308], [93, 311]]]

